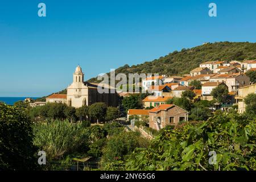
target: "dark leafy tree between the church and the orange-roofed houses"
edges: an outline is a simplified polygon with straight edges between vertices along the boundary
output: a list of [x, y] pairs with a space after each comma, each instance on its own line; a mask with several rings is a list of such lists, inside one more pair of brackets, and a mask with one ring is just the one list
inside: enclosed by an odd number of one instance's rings
[[131, 94], [131, 96], [123, 98], [122, 104], [126, 113], [128, 109], [142, 109], [140, 94]]

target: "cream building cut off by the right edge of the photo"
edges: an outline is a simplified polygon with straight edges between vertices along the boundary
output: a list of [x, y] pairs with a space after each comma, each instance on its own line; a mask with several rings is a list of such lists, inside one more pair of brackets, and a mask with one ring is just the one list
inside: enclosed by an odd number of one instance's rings
[[256, 84], [238, 88], [238, 96], [235, 97], [238, 100], [238, 113], [243, 113], [245, 111], [246, 105], [243, 102], [243, 99], [250, 93], [256, 93]]

